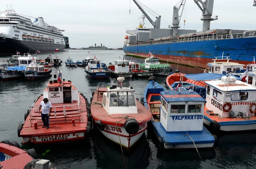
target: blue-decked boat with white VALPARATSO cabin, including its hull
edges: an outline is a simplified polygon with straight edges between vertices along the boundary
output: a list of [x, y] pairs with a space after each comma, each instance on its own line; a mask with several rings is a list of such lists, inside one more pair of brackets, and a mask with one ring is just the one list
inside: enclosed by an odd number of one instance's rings
[[160, 92], [160, 118], [152, 118], [152, 126], [165, 149], [210, 148], [217, 137], [203, 125], [204, 104], [198, 93], [189, 90]]

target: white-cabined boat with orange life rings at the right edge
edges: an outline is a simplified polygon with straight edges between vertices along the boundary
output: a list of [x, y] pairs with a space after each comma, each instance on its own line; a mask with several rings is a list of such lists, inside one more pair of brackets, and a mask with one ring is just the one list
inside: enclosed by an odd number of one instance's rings
[[212, 130], [256, 130], [256, 87], [223, 76], [221, 80], [205, 82], [207, 94], [204, 124]]

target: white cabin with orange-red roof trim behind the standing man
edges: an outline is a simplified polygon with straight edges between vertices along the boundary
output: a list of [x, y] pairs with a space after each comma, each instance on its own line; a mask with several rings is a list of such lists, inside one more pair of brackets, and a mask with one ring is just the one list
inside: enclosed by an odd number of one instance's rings
[[79, 102], [79, 92], [71, 81], [50, 81], [43, 94], [52, 104]]

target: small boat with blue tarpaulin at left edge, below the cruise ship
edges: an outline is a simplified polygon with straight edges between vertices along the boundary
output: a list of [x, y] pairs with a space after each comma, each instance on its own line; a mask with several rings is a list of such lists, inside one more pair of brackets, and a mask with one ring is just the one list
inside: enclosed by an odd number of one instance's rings
[[24, 77], [26, 66], [32, 62], [31, 55], [21, 56], [18, 58], [18, 66], [3, 66], [0, 67], [0, 77], [3, 81], [14, 80]]

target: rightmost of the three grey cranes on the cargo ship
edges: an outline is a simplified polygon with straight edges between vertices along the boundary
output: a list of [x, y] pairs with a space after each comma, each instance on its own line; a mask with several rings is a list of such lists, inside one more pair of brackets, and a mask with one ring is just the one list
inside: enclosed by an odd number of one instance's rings
[[[194, 0], [199, 9], [203, 12], [201, 20], [203, 21], [203, 31], [210, 30], [210, 22], [212, 20], [218, 20], [218, 16], [212, 17], [213, 3], [214, 0]], [[201, 3], [201, 5], [199, 4]]]

